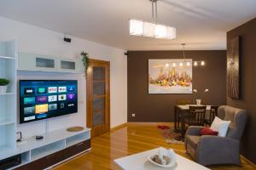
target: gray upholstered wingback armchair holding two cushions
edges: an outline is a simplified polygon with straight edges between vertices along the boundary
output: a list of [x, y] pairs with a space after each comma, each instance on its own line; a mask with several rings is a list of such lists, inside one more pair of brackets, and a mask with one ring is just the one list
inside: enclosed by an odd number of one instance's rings
[[185, 149], [201, 165], [241, 165], [240, 139], [247, 121], [247, 113], [235, 107], [223, 105], [218, 116], [231, 121], [226, 137], [200, 136], [203, 127], [191, 126], [185, 136]]

